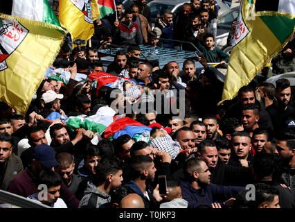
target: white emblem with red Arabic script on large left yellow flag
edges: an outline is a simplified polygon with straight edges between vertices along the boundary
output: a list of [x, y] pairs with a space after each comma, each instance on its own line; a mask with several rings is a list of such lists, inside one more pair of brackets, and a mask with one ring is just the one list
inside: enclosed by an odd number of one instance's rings
[[0, 18], [0, 71], [7, 69], [6, 58], [17, 49], [28, 29], [16, 20]]

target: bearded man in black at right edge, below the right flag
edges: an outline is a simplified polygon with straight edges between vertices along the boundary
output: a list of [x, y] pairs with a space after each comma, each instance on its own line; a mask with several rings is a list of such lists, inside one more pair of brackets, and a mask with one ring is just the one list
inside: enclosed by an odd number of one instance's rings
[[276, 80], [276, 102], [267, 106], [265, 110], [271, 117], [275, 133], [283, 129], [285, 122], [292, 119], [294, 115], [294, 106], [289, 104], [291, 100], [291, 87], [287, 78]]

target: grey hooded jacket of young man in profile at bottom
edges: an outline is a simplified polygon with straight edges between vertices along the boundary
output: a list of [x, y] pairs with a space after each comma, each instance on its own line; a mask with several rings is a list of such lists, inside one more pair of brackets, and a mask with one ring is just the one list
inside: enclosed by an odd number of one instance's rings
[[109, 194], [100, 191], [92, 182], [87, 182], [87, 187], [84, 191], [83, 198], [80, 200], [79, 208], [89, 205], [91, 195], [94, 196], [93, 198], [96, 200], [96, 208], [105, 208], [107, 204], [111, 202], [111, 196], [109, 196]]

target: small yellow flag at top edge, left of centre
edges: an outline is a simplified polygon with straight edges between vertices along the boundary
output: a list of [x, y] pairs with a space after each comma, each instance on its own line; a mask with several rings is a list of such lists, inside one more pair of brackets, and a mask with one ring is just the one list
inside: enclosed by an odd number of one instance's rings
[[[60, 0], [58, 19], [71, 33], [72, 40], [82, 39], [87, 42], [93, 35], [93, 5], [91, 0]], [[98, 17], [97, 10], [94, 12], [95, 17]]]

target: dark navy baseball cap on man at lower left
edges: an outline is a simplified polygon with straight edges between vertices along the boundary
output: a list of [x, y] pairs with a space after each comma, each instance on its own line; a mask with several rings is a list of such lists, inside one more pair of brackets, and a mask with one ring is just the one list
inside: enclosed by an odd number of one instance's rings
[[39, 144], [35, 146], [33, 150], [33, 157], [35, 157], [36, 160], [39, 160], [39, 162], [41, 162], [41, 164], [47, 169], [51, 169], [59, 165], [59, 163], [55, 160], [53, 148], [47, 144]]

